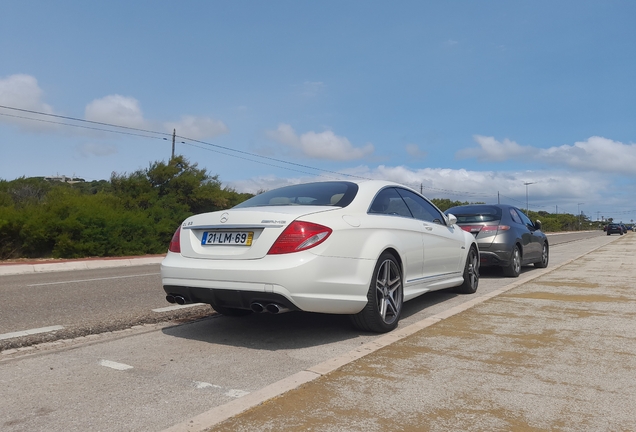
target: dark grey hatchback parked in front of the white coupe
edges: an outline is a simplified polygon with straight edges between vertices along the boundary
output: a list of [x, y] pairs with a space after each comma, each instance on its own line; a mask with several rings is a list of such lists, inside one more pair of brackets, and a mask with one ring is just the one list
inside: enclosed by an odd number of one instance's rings
[[479, 246], [481, 266], [499, 266], [504, 274], [517, 277], [521, 266], [548, 266], [550, 246], [541, 222], [532, 222], [524, 212], [505, 204], [471, 204], [452, 207], [446, 214], [472, 233]]

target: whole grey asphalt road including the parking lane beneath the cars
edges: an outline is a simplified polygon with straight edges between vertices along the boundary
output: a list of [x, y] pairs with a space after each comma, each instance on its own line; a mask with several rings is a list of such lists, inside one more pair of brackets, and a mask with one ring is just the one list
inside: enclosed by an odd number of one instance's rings
[[[551, 265], [616, 238], [587, 237], [555, 238]], [[524, 267], [517, 280], [484, 272], [475, 295], [545, 271]], [[0, 388], [9, 397], [0, 398], [0, 429], [161, 430], [378, 338], [353, 329], [347, 317], [304, 313], [236, 319], [205, 308], [204, 318], [186, 324], [139, 325], [168, 306], [157, 273], [142, 266], [1, 277], [3, 333], [66, 325], [87, 336], [2, 351]], [[421, 296], [405, 304], [400, 326], [475, 295]], [[133, 327], [95, 331], [110, 320]]]

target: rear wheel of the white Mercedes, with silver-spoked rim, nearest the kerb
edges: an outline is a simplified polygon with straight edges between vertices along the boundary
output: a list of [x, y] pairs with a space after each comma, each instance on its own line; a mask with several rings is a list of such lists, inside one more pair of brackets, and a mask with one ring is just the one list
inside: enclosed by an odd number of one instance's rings
[[400, 266], [390, 253], [383, 253], [375, 265], [367, 300], [364, 309], [351, 315], [355, 327], [376, 333], [386, 333], [397, 327], [402, 314], [404, 286]]

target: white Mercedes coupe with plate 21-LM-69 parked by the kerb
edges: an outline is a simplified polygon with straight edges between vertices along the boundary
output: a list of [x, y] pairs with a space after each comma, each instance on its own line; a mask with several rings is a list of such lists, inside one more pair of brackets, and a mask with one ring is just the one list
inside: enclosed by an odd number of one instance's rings
[[223, 315], [349, 314], [360, 330], [397, 327], [403, 302], [479, 283], [472, 234], [416, 191], [378, 180], [274, 189], [186, 219], [161, 278], [170, 303]]

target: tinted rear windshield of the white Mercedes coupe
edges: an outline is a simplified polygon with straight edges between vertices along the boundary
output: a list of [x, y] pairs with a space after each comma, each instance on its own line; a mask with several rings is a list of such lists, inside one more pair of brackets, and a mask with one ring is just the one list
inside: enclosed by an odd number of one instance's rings
[[358, 185], [351, 182], [305, 183], [263, 192], [234, 208], [287, 205], [345, 207], [351, 204], [357, 192]]

